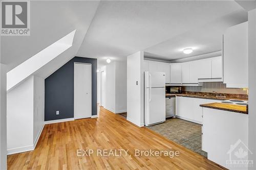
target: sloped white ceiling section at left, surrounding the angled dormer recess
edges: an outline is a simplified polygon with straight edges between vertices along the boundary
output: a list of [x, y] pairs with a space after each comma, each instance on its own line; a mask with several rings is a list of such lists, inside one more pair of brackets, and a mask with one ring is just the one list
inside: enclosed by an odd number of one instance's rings
[[98, 1], [31, 1], [30, 36], [1, 37], [1, 63], [9, 70], [34, 56], [53, 42], [76, 30], [73, 46], [59, 60], [42, 67], [38, 74], [49, 76], [53, 71], [73, 58], [86, 35]]

